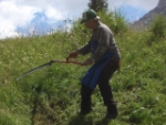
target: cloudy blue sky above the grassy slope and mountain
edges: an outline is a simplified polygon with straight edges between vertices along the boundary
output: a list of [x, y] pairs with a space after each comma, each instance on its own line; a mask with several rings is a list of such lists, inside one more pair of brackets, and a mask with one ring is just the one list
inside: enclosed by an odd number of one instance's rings
[[[0, 39], [65, 30], [81, 18], [90, 0], [0, 0]], [[107, 0], [108, 10], [121, 9], [129, 22], [154, 9], [158, 0]], [[34, 32], [35, 31], [35, 32]]]

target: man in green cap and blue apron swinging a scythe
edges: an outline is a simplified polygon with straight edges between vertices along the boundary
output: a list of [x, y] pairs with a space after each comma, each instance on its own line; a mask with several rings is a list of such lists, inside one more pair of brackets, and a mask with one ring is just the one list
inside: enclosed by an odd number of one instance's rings
[[76, 58], [79, 54], [91, 53], [91, 56], [82, 64], [93, 65], [82, 79], [81, 114], [86, 115], [92, 111], [91, 95], [95, 86], [98, 85], [104, 104], [107, 107], [106, 118], [116, 118], [117, 106], [108, 81], [118, 69], [120, 51], [112, 31], [100, 21], [100, 17], [94, 10], [90, 9], [83, 12], [81, 23], [92, 30], [91, 40], [83, 48], [69, 54], [69, 58]]

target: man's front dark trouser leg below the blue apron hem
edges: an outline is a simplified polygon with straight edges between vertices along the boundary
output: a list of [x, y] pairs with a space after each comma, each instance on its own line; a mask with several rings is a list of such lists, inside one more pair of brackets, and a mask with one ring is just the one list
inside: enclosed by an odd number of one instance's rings
[[93, 90], [82, 84], [81, 87], [81, 112], [86, 114], [92, 110], [91, 95]]

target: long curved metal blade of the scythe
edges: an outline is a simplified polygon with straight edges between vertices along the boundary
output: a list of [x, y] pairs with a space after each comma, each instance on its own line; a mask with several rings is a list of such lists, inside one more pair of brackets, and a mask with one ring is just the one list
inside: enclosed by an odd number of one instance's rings
[[31, 73], [33, 73], [33, 72], [35, 72], [35, 71], [38, 71], [38, 70], [41, 70], [41, 69], [43, 69], [43, 67], [45, 67], [45, 66], [50, 66], [51, 64], [52, 64], [52, 61], [51, 61], [51, 62], [48, 62], [48, 63], [45, 63], [45, 64], [42, 64], [42, 65], [40, 65], [40, 66], [38, 66], [38, 67], [35, 67], [35, 69], [32, 69], [32, 70], [30, 70], [30, 71], [23, 73], [23, 74], [22, 74], [21, 76], [19, 76], [17, 80], [20, 80], [20, 79], [24, 77], [25, 75], [31, 74]]

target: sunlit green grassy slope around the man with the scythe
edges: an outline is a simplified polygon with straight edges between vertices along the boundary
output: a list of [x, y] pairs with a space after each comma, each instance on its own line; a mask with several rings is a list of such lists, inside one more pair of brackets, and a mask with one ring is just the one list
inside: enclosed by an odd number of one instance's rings
[[[120, 116], [107, 125], [164, 125], [166, 121], [166, 39], [152, 42], [149, 37], [146, 31], [116, 35], [122, 71], [111, 84]], [[65, 59], [87, 39], [79, 32], [58, 32], [0, 41], [0, 125], [101, 125], [105, 107], [98, 88], [92, 96], [94, 111], [77, 116], [80, 79], [87, 67], [54, 63], [15, 81], [52, 59]]]

